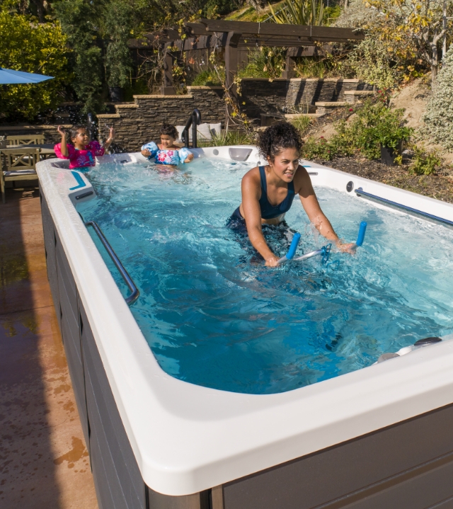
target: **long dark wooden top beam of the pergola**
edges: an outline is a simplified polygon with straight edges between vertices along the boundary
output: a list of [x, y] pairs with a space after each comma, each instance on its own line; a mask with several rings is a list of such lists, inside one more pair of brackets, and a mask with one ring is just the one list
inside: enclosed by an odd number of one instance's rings
[[311, 40], [364, 40], [365, 34], [353, 28], [331, 26], [280, 25], [279, 23], [251, 23], [248, 21], [224, 21], [200, 19], [210, 32], [240, 32], [243, 35], [292, 35]]

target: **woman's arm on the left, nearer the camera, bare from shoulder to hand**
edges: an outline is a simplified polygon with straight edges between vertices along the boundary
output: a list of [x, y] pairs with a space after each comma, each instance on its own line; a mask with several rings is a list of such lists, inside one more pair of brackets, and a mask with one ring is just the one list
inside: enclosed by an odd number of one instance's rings
[[266, 243], [263, 230], [261, 228], [261, 210], [260, 210], [260, 179], [257, 168], [246, 173], [242, 179], [242, 208], [243, 217], [246, 219], [246, 227], [248, 238], [252, 246], [260, 253], [265, 259], [265, 264], [268, 267], [275, 267], [278, 262], [277, 256], [270, 251]]

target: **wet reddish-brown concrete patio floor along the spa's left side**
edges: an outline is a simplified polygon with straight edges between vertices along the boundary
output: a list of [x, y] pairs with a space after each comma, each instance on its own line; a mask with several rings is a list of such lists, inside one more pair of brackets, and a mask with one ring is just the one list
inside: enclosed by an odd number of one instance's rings
[[0, 508], [96, 509], [45, 265], [38, 191], [0, 203]]

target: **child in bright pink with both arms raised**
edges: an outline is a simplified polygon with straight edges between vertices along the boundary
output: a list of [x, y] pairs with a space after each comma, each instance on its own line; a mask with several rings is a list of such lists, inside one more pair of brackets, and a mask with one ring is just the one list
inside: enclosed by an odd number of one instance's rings
[[110, 127], [110, 135], [101, 147], [101, 144], [96, 140], [90, 142], [90, 137], [84, 126], [76, 125], [71, 127], [69, 132], [66, 132], [59, 125], [58, 132], [62, 136], [62, 142], [55, 145], [55, 154], [60, 159], [69, 159], [70, 169], [96, 166], [95, 156], [104, 155], [105, 150], [113, 142], [113, 135], [115, 134], [113, 127]]

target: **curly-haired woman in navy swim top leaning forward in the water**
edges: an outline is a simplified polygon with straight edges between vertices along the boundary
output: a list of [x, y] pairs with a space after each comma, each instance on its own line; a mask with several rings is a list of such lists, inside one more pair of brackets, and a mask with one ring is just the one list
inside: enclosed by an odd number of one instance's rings
[[[229, 227], [246, 227], [253, 247], [275, 267], [278, 256], [270, 250], [263, 236], [263, 224], [280, 224], [285, 219], [295, 195], [319, 233], [333, 241], [340, 251], [352, 252], [355, 244], [343, 244], [316, 199], [309, 174], [299, 164], [302, 141], [288, 122], [271, 125], [260, 135], [258, 149], [268, 166], [257, 166], [242, 179], [242, 202], [229, 219]], [[275, 204], [275, 205], [274, 205]]]

